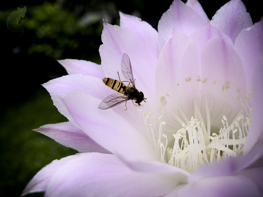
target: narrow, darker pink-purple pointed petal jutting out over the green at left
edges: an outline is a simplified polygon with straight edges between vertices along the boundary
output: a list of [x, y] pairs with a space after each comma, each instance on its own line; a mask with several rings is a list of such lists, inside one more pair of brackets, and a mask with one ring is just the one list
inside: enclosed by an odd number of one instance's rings
[[82, 130], [72, 125], [70, 122], [43, 125], [35, 131], [42, 133], [59, 144], [75, 149], [79, 152], [100, 152], [110, 154], [102, 148]]

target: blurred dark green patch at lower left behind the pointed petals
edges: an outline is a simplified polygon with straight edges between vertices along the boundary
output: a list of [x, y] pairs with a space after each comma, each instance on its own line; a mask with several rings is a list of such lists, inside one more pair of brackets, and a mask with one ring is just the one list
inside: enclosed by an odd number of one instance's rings
[[0, 196], [20, 196], [42, 167], [54, 159], [76, 154], [77, 151], [32, 131], [43, 124], [65, 121], [45, 90], [5, 111], [0, 119]]

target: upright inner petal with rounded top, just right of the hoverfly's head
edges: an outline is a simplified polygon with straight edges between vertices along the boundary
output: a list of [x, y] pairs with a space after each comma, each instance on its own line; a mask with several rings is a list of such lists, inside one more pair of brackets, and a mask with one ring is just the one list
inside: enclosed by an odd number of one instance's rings
[[[190, 82], [198, 78], [198, 57], [195, 43], [183, 33], [174, 31], [159, 56], [156, 70], [156, 100], [158, 107], [165, 105], [167, 113], [182, 110], [190, 120], [193, 109], [193, 92]], [[193, 83], [196, 87], [196, 83]], [[168, 96], [169, 95], [169, 96]], [[167, 101], [165, 103], [163, 100]], [[167, 120], [168, 121], [168, 120]], [[171, 124], [174, 124], [173, 119]], [[176, 129], [181, 128], [181, 123]]]

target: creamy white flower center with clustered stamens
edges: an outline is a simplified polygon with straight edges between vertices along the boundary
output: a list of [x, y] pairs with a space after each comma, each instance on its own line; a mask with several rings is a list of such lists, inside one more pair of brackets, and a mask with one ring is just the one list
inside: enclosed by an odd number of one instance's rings
[[[188, 80], [191, 81], [191, 79]], [[220, 92], [223, 93], [228, 88], [229, 82]], [[160, 115], [158, 119], [152, 116], [151, 112], [147, 113], [140, 108], [139, 112], [142, 113], [141, 117], [144, 120], [142, 130], [148, 133], [148, 138], [157, 154], [160, 155], [161, 162], [191, 173], [204, 164], [242, 154], [250, 128], [251, 108], [246, 103], [246, 100], [250, 98], [245, 96], [243, 101], [241, 90], [237, 89], [236, 92], [240, 94], [235, 100], [235, 102], [240, 102], [240, 110], [234, 113], [233, 111], [226, 112], [222, 117], [217, 117], [221, 120], [219, 126], [211, 125], [212, 110], [206, 97], [200, 97], [204, 103], [201, 105], [203, 109], [199, 107], [198, 100], [193, 99], [193, 114], [188, 122], [180, 118], [180, 116], [186, 117], [180, 108], [178, 111], [170, 111], [172, 118], [167, 115], [170, 108], [166, 108], [169, 101], [165, 99], [165, 96], [169, 97], [169, 94], [160, 98], [161, 112], [165, 115]], [[250, 95], [252, 95], [251, 92]], [[231, 122], [228, 122], [229, 117], [227, 116], [230, 117]], [[203, 117], [206, 117], [206, 120]]]

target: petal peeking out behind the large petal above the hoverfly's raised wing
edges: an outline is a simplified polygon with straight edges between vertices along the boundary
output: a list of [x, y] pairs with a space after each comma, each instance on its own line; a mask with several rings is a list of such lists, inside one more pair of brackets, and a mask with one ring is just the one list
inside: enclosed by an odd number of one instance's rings
[[130, 29], [143, 42], [150, 46], [151, 52], [158, 58], [158, 32], [147, 22], [142, 21], [136, 16], [120, 13], [120, 27]]

